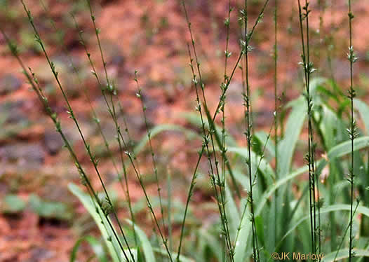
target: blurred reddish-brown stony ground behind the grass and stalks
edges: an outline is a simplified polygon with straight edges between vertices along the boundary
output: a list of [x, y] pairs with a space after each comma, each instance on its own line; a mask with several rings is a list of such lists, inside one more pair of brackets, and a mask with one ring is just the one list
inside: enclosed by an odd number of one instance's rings
[[[206, 83], [208, 104], [214, 110], [224, 76], [224, 19], [228, 1], [186, 2]], [[233, 55], [228, 71], [234, 67], [240, 49], [239, 39], [242, 37], [238, 17], [243, 1], [231, 2], [235, 9], [231, 14], [229, 50]], [[278, 89], [283, 106], [298, 97], [304, 85], [298, 65], [301, 43], [297, 1], [279, 2]], [[91, 104], [100, 118], [112, 151], [117, 153], [119, 147], [114, 123], [79, 42], [79, 29], [82, 29], [96, 70], [103, 76], [98, 43], [86, 2], [25, 0], [25, 3], [32, 11], [35, 25], [46, 43], [46, 50], [59, 71], [83, 134], [100, 159], [100, 170], [117, 200], [119, 215], [123, 218], [128, 214], [126, 202], [122, 201], [124, 194], [90, 110]], [[250, 0], [249, 3], [250, 23], [253, 23], [264, 1]], [[251, 43], [254, 49], [250, 53], [253, 127], [265, 132], [269, 132], [274, 121], [273, 4], [274, 1], [270, 1], [263, 22], [255, 31]], [[124, 113], [133, 144], [139, 144], [146, 134], [145, 119], [133, 81], [135, 70], [139, 72], [150, 127], [168, 127], [166, 125], [170, 124], [199, 133], [194, 120], [196, 92], [188, 66], [189, 33], [179, 2], [95, 0], [91, 1], [91, 5], [100, 29], [107, 74], [114, 79], [116, 97], [121, 103], [119, 121], [123, 123]], [[358, 97], [368, 101], [369, 5], [366, 1], [353, 1], [353, 8], [356, 16], [354, 48], [359, 57], [354, 68], [355, 88]], [[346, 93], [349, 88], [347, 3], [344, 0], [311, 1], [311, 9], [311, 60], [317, 69], [314, 76], [335, 79], [343, 88], [342, 92]], [[76, 29], [70, 13], [74, 14], [79, 29]], [[55, 85], [39, 44], [34, 41], [34, 33], [20, 1], [0, 0], [0, 27], [18, 43], [20, 57], [35, 72], [52, 108], [60, 114], [68, 139], [83, 165], [90, 170], [96, 188], [100, 188], [74, 123], [68, 118], [60, 90]], [[58, 30], [55, 31], [55, 27]], [[237, 143], [245, 145], [241, 92], [241, 71], [236, 70], [234, 81], [227, 91], [227, 130]], [[0, 127], [0, 261], [68, 261], [70, 251], [79, 237], [97, 233], [95, 223], [67, 189], [69, 182], [79, 184], [78, 172], [69, 153], [63, 148], [60, 135], [55, 132], [51, 120], [22, 76], [20, 66], [6, 47], [2, 35]], [[172, 194], [177, 201], [173, 207], [177, 209], [174, 219], [179, 220], [201, 139], [171, 126], [163, 129], [166, 131], [154, 137], [153, 146], [160, 177], [165, 179], [168, 173], [173, 177], [175, 190]], [[306, 144], [301, 141], [295, 157], [296, 164], [302, 165], [305, 149]], [[142, 147], [139, 161], [148, 191], [155, 198], [156, 184], [147, 146]], [[194, 228], [199, 227], [199, 218], [206, 224], [214, 220], [214, 216], [215, 219], [217, 217], [215, 205], [210, 205], [213, 202], [212, 189], [206, 170], [204, 160], [201, 163], [204, 175], [199, 177], [192, 202], [200, 208], [192, 210], [188, 222]], [[153, 228], [145, 226], [152, 224], [150, 216], [145, 212], [142, 191], [131, 171], [128, 170], [128, 175], [135, 214], [140, 218], [140, 225], [150, 233]], [[164, 182], [162, 186], [165, 187]], [[90, 254], [88, 246], [81, 247], [79, 257], [82, 260]]]

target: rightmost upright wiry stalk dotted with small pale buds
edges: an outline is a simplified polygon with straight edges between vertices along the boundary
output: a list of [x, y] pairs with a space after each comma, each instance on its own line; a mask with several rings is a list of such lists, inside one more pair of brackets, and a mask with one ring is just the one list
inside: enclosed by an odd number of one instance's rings
[[349, 183], [350, 183], [350, 193], [351, 193], [351, 199], [350, 199], [350, 222], [349, 222], [349, 228], [350, 228], [350, 235], [349, 235], [349, 262], [351, 262], [352, 258], [354, 257], [354, 252], [352, 249], [354, 248], [354, 235], [352, 235], [352, 223], [354, 219], [354, 212], [353, 212], [353, 202], [354, 202], [354, 139], [357, 136], [356, 132], [356, 123], [354, 119], [354, 97], [356, 95], [354, 90], [354, 69], [353, 65], [354, 62], [358, 60], [354, 53], [354, 47], [352, 46], [352, 20], [354, 19], [354, 15], [351, 11], [351, 0], [349, 0], [349, 53], [347, 54], [347, 58], [350, 62], [350, 88], [349, 88], [349, 99], [351, 104], [351, 116], [350, 116], [350, 128], [349, 128], [349, 138], [351, 140], [351, 167], [349, 170]]

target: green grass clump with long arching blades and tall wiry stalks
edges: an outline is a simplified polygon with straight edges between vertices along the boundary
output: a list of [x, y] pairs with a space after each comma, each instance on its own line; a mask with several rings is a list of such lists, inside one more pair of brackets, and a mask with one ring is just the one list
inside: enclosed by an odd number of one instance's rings
[[[96, 24], [93, 6], [91, 6], [90, 1], [86, 1], [95, 39], [98, 43], [97, 54], [90, 53], [84, 40], [83, 29], [74, 17], [72, 19], [79, 32], [79, 41], [86, 53], [93, 77], [100, 88], [109, 118], [114, 125], [117, 152], [112, 150], [112, 144], [109, 144], [102, 131], [98, 115], [88, 97], [88, 90], [85, 95], [99, 135], [105, 144], [109, 161], [114, 167], [116, 177], [125, 195], [129, 219], [122, 219], [119, 216], [118, 207], [112, 200], [112, 193], [110, 193], [105, 176], [100, 170], [99, 160], [95, 157], [88, 139], [83, 135], [79, 119], [74, 113], [70, 98], [60, 80], [58, 69], [46, 50], [32, 13], [27, 8], [25, 1], [22, 1], [22, 4], [36, 42], [39, 44], [46, 62], [48, 62], [62, 94], [62, 99], [67, 106], [69, 118], [72, 119], [78, 130], [83, 148], [101, 186], [101, 191], [93, 186], [92, 177], [87, 175], [86, 168], [81, 164], [81, 158], [77, 156], [65, 135], [58, 113], [52, 109], [48, 98], [44, 95], [42, 83], [39, 83], [32, 69], [25, 66], [18, 53], [18, 48], [8, 38], [6, 32], [1, 29], [11, 53], [22, 67], [27, 81], [43, 106], [44, 112], [51, 118], [56, 131], [62, 137], [80, 174], [81, 184], [86, 187], [86, 193], [74, 184], [70, 185], [69, 188], [86, 207], [102, 235], [103, 241], [86, 235], [78, 240], [72, 250], [71, 261], [76, 261], [76, 253], [83, 241], [90, 244], [99, 261], [111, 260], [114, 262], [270, 261], [276, 258], [274, 254], [280, 257], [283, 252], [324, 254], [324, 261], [337, 261], [340, 258], [358, 261], [361, 256], [369, 256], [369, 228], [365, 227], [365, 221], [368, 221], [369, 217], [369, 209], [365, 207], [368, 205], [369, 199], [367, 181], [365, 180], [369, 174], [369, 167], [365, 165], [369, 137], [360, 135], [369, 132], [369, 120], [368, 116], [365, 115], [369, 112], [369, 107], [355, 98], [353, 64], [357, 58], [352, 46], [354, 15], [351, 11], [351, 1], [348, 3], [349, 102], [343, 97], [337, 97], [337, 94], [340, 95], [341, 92], [335, 81], [329, 81], [323, 77], [313, 77], [316, 69], [314, 69], [311, 58], [313, 47], [311, 46], [309, 18], [311, 18], [311, 14], [314, 14], [314, 10], [311, 9], [309, 1], [297, 0], [302, 46], [302, 62], [300, 64], [303, 68], [304, 92], [303, 95], [284, 106], [281, 106], [281, 98], [279, 97], [279, 86], [282, 82], [279, 79], [279, 8], [281, 2], [274, 1], [271, 17], [274, 18], [274, 46], [272, 48], [274, 112], [269, 132], [256, 130], [254, 126], [253, 99], [251, 99], [254, 88], [252, 88], [252, 78], [250, 77], [250, 69], [253, 67], [251, 59], [253, 53], [251, 51], [254, 49], [251, 44], [258, 25], [264, 18], [264, 13], [268, 11], [269, 0], [258, 1], [260, 9], [254, 22], [250, 22], [250, 6], [253, 1], [243, 1], [242, 8], [238, 10], [239, 29], [242, 34], [239, 36], [239, 51], [235, 59], [232, 57], [234, 52], [232, 52], [233, 47], [230, 44], [230, 39], [234, 18], [232, 12], [236, 8], [232, 6], [232, 1], [227, 2], [227, 13], [225, 13], [224, 19], [225, 48], [224, 57], [222, 57], [224, 58], [224, 67], [221, 70], [223, 76], [220, 78], [220, 90], [218, 90], [220, 97], [216, 101], [215, 111], [210, 110], [211, 102], [207, 96], [208, 90], [206, 90], [208, 86], [203, 78], [203, 67], [201, 67], [201, 57], [198, 50], [201, 43], [195, 41], [196, 32], [192, 28], [187, 2], [180, 1], [189, 32], [187, 53], [192, 85], [194, 92], [196, 92], [197, 114], [196, 116], [192, 115], [192, 121], [189, 120], [189, 122], [197, 129], [177, 125], [159, 125], [151, 128], [147, 116], [144, 89], [139, 82], [138, 72], [135, 71], [136, 96], [140, 102], [142, 120], [145, 124], [145, 136], [138, 144], [133, 143], [130, 136], [132, 130], [127, 125], [126, 112], [123, 110], [124, 105], [119, 101], [119, 89], [116, 88], [114, 81], [108, 74], [107, 60], [102, 51], [100, 29]], [[47, 10], [44, 5], [43, 7]], [[320, 27], [323, 27], [322, 17], [320, 21]], [[55, 24], [53, 25], [55, 31], [58, 31]], [[67, 53], [67, 50], [65, 52]], [[95, 65], [95, 55], [100, 57], [104, 76], [100, 76]], [[72, 59], [70, 60], [72, 61]], [[234, 78], [238, 77], [237, 69], [241, 71], [242, 78], [240, 96], [243, 98], [243, 103], [240, 106], [243, 106], [242, 132], [245, 135], [246, 146], [240, 146], [236, 142], [236, 138], [229, 135], [227, 130], [229, 127], [226, 117], [229, 105], [227, 90]], [[74, 70], [74, 72], [78, 76], [78, 71]], [[333, 76], [333, 73], [330, 75]], [[335, 103], [331, 103], [331, 101]], [[365, 127], [363, 130], [360, 130], [356, 125], [355, 108], [363, 120]], [[119, 119], [119, 114], [123, 115], [123, 123]], [[283, 114], [286, 114], [284, 121]], [[305, 157], [307, 165], [295, 168], [295, 164], [299, 163], [299, 161], [295, 161], [295, 153], [300, 149], [299, 140], [301, 133], [304, 132], [305, 122], [307, 122], [307, 155]], [[348, 135], [345, 129], [348, 130]], [[168, 172], [166, 176], [166, 188], [163, 186], [163, 181], [159, 179], [165, 176], [161, 176], [161, 171], [159, 171], [160, 163], [156, 150], [154, 150], [154, 139], [156, 135], [166, 130], [177, 130], [184, 134], [190, 133], [192, 139], [201, 141], [198, 156], [191, 166], [192, 177], [189, 180], [187, 195], [185, 195], [185, 204], [178, 204], [173, 199], [175, 188], [173, 188], [171, 172]], [[149, 194], [141, 172], [142, 163], [137, 159], [138, 154], [145, 146], [149, 149], [157, 195]], [[201, 166], [202, 157], [206, 158], [204, 161], [206, 160], [207, 169]], [[342, 174], [347, 171], [349, 187], [342, 183], [344, 182]], [[191, 223], [191, 219], [189, 219], [191, 200], [197, 189], [196, 180], [202, 173], [207, 175], [212, 187], [215, 205], [210, 204], [210, 206], [216, 210], [218, 217], [216, 221], [211, 221], [208, 225], [197, 221], [195, 226], [189, 226]], [[131, 177], [130, 174], [132, 174]], [[303, 174], [307, 174], [308, 178], [302, 178]], [[147, 232], [139, 227], [140, 218], [135, 212], [135, 205], [138, 204], [133, 202], [131, 198], [130, 179], [139, 184], [145, 200], [145, 212], [152, 219], [150, 227], [154, 228], [154, 234], [152, 234], [151, 239], [147, 236]], [[162, 186], [164, 190], [166, 189], [167, 195], [163, 193]], [[356, 194], [360, 196], [361, 202], [357, 201], [355, 205]], [[324, 201], [323, 198], [325, 198]], [[178, 214], [173, 211], [175, 206], [179, 206], [178, 209], [181, 209]], [[307, 210], [309, 211], [307, 212]], [[347, 216], [333, 215], [335, 212], [349, 212], [349, 219]], [[360, 217], [357, 214], [360, 214]], [[365, 217], [365, 219], [361, 219], [361, 217]], [[357, 232], [355, 232], [356, 224], [360, 226], [360, 230]], [[193, 228], [195, 233], [189, 233]], [[349, 237], [347, 237], [347, 233]], [[342, 235], [340, 242], [335, 240], [337, 235]], [[363, 237], [363, 240], [358, 241], [357, 245], [354, 243], [356, 237]], [[102, 253], [97, 252], [99, 245], [103, 247]]]

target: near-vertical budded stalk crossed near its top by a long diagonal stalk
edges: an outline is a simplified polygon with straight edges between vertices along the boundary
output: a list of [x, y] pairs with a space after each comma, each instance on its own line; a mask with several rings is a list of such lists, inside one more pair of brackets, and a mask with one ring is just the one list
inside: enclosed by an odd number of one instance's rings
[[[245, 43], [244, 43], [244, 52], [245, 52], [245, 77], [246, 77], [246, 93], [243, 92], [243, 106], [244, 106], [244, 115], [245, 115], [245, 125], [246, 125], [246, 141], [247, 141], [247, 150], [248, 150], [248, 158], [246, 159], [246, 165], [248, 167], [248, 176], [250, 182], [250, 191], [248, 191], [248, 202], [250, 203], [250, 221], [252, 226], [252, 235], [253, 235], [253, 259], [254, 261], [260, 261], [259, 247], [257, 243], [257, 232], [256, 232], [256, 224], [255, 224], [255, 212], [254, 212], [254, 198], [253, 198], [253, 187], [255, 185], [255, 179], [253, 179], [253, 172], [251, 168], [251, 144], [252, 144], [252, 122], [250, 120], [250, 79], [248, 77], [248, 53], [251, 50], [249, 46], [248, 36], [248, 0], [245, 0], [245, 6], [243, 11], [241, 11], [243, 15], [243, 22], [245, 26]], [[260, 18], [257, 18], [260, 19]]]

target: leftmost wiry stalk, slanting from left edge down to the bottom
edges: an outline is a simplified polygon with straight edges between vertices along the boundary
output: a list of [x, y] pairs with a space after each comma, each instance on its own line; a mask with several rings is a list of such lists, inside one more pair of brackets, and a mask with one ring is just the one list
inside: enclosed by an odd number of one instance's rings
[[[29, 18], [32, 18], [29, 11], [27, 11], [27, 14], [29, 15]], [[29, 84], [32, 86], [32, 89], [34, 90], [34, 92], [36, 92], [36, 95], [37, 95], [39, 101], [43, 105], [43, 109], [46, 111], [48, 116], [53, 121], [53, 124], [55, 125], [56, 131], [62, 137], [62, 140], [65, 143], [65, 147], [69, 151], [69, 155], [72, 157], [72, 159], [74, 161], [74, 165], [76, 165], [76, 168], [79, 172], [79, 175], [81, 177], [81, 183], [83, 184], [83, 186], [86, 186], [86, 188], [88, 190], [88, 193], [90, 194], [90, 197], [93, 200], [93, 202], [97, 203], [98, 206], [100, 207], [100, 209], [102, 209], [103, 215], [105, 216], [105, 218], [108, 222], [108, 226], [114, 234], [114, 239], [119, 244], [119, 248], [121, 249], [121, 252], [123, 252], [123, 256], [126, 258], [126, 261], [129, 261], [128, 254], [126, 253], [126, 249], [123, 248], [123, 244], [121, 243], [121, 239], [118, 236], [118, 234], [116, 233], [116, 230], [115, 230], [114, 226], [112, 225], [112, 223], [109, 220], [109, 214], [111, 212], [115, 213], [112, 202], [111, 202], [110, 198], [108, 198], [109, 196], [107, 195], [107, 198], [105, 199], [106, 200], [105, 202], [100, 200], [100, 198], [98, 197], [98, 193], [95, 192], [92, 184], [90, 183], [90, 179], [88, 179], [88, 176], [86, 175], [86, 172], [83, 170], [83, 167], [82, 167], [81, 163], [79, 162], [79, 159], [76, 157], [76, 153], [74, 153], [74, 149], [72, 148], [72, 146], [69, 143], [67, 137], [65, 136], [65, 133], [62, 131], [62, 125], [61, 125], [60, 120], [58, 118], [58, 114], [55, 113], [55, 111], [53, 111], [53, 109], [51, 109], [51, 106], [48, 104], [48, 99], [45, 95], [43, 95], [41, 87], [39, 86], [39, 82], [37, 81], [36, 77], [34, 76], [34, 73], [32, 73], [32, 71], [31, 71], [31, 74], [29, 74], [27, 72], [27, 69], [26, 69], [25, 65], [23, 64], [22, 60], [20, 60], [20, 57], [18, 55], [17, 47], [10, 41], [10, 39], [8, 39], [8, 36], [5, 34], [3, 29], [0, 28], [0, 31], [4, 35], [4, 39], [6, 40], [6, 43], [8, 44], [12, 55], [18, 61], [18, 63], [20, 64], [20, 67], [22, 67], [23, 74], [25, 74], [27, 80], [29, 81]], [[95, 163], [95, 161], [96, 161], [95, 158], [91, 158], [91, 160], [93, 161], [93, 163]], [[98, 212], [98, 214], [99, 214], [99, 216], [101, 216], [100, 212]], [[112, 236], [109, 236], [109, 237], [112, 237]], [[124, 234], [123, 234], [123, 239], [126, 242], [126, 236]], [[127, 244], [128, 251], [129, 251], [131, 257], [133, 257], [127, 242], [126, 242], [126, 244]], [[115, 247], [114, 247], [114, 249], [115, 249]], [[119, 258], [119, 261], [121, 261], [120, 253], [117, 252], [117, 251], [116, 251], [116, 256]], [[133, 260], [134, 260], [134, 258], [133, 258]]]

